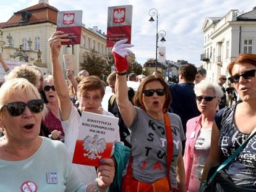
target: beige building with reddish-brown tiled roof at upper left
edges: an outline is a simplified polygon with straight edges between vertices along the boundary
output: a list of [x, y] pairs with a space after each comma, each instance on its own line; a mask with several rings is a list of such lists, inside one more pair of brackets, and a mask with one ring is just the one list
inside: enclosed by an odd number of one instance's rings
[[[0, 50], [4, 59], [26, 60], [35, 64], [45, 75], [51, 74], [51, 58], [48, 46], [49, 37], [56, 31], [58, 9], [50, 6], [48, 1], [40, 0], [35, 6], [19, 10], [7, 20], [0, 23]], [[62, 46], [60, 62], [64, 72], [62, 54], [74, 54], [75, 75], [80, 70], [83, 53], [95, 49], [103, 56], [111, 54], [106, 48], [106, 34], [98, 27], [82, 26], [81, 43], [74, 46]], [[24, 57], [20, 57], [20, 56]], [[130, 62], [135, 56], [129, 57]]]

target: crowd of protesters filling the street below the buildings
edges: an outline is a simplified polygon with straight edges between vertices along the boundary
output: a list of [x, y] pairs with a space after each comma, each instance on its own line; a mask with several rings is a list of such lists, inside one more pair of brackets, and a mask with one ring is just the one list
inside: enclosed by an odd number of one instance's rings
[[[49, 38], [53, 75], [45, 79], [34, 65], [10, 70], [0, 53], [6, 72], [0, 88], [1, 191], [199, 191], [211, 167], [255, 131], [255, 54], [237, 56], [228, 65], [229, 78], [220, 74], [216, 82], [207, 80], [205, 69], [182, 65], [179, 83], [173, 83], [158, 71], [127, 74], [132, 45], [121, 40], [114, 44], [116, 70], [107, 82], [69, 69], [66, 80], [59, 51], [67, 41], [62, 31]], [[108, 110], [101, 103], [107, 85]], [[119, 119], [111, 157], [100, 159], [99, 167], [72, 163], [83, 111]], [[230, 185], [244, 191], [256, 190], [255, 143], [253, 135], [224, 167]], [[222, 184], [214, 190], [228, 191]]]

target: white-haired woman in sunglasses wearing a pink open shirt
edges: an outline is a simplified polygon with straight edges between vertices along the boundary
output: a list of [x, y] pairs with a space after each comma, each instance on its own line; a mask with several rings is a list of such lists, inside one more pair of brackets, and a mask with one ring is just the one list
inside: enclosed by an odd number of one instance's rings
[[211, 128], [216, 107], [223, 91], [218, 83], [200, 81], [194, 87], [198, 111], [201, 115], [187, 121], [184, 166], [186, 171], [186, 191], [198, 192], [203, 166], [210, 152]]

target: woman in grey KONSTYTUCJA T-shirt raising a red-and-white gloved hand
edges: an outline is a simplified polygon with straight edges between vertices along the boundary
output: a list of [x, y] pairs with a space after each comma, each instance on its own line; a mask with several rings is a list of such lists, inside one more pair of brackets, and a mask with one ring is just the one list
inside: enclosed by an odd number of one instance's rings
[[126, 73], [130, 44], [117, 41], [112, 50], [116, 65], [116, 101], [131, 131], [131, 155], [122, 191], [185, 191], [181, 119], [167, 112], [171, 94], [163, 78], [150, 75], [129, 101]]

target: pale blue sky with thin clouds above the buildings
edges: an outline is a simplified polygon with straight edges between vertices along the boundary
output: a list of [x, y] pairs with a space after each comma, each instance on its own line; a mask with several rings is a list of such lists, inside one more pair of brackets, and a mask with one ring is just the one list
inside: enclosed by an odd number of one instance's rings
[[[38, 4], [38, 0], [1, 1], [0, 22], [6, 22], [14, 12]], [[203, 53], [202, 26], [206, 17], [223, 17], [231, 9], [249, 12], [256, 6], [255, 0], [49, 0], [58, 10], [83, 10], [83, 24], [99, 30], [107, 28], [109, 6], [132, 5], [132, 44], [136, 60], [144, 64], [155, 58], [156, 22], [150, 23], [148, 11], [158, 10], [158, 31], [166, 31], [166, 59], [184, 59], [200, 66]], [[162, 45], [160, 42], [158, 45]]]

